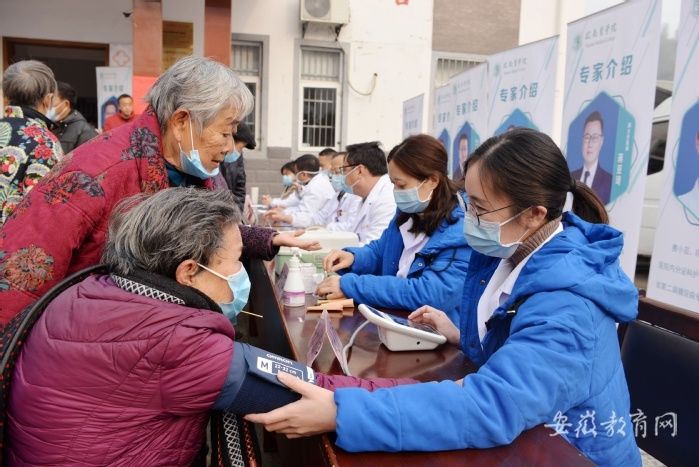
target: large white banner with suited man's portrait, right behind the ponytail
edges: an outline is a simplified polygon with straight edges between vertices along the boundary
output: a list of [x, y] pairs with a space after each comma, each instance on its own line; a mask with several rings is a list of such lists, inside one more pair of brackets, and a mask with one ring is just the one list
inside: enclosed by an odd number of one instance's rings
[[660, 44], [659, 0], [633, 0], [568, 25], [561, 147], [571, 175], [624, 233], [633, 278]]

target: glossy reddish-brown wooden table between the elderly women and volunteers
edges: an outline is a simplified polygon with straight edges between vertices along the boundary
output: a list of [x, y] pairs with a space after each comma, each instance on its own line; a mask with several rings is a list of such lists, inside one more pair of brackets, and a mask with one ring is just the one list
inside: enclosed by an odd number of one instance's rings
[[[251, 311], [264, 315], [256, 320], [262, 346], [288, 358], [306, 361], [307, 343], [320, 313], [306, 312], [303, 307], [288, 308], [281, 303], [281, 291], [274, 283], [271, 263], [253, 261], [249, 265], [252, 281]], [[343, 343], [364, 321], [358, 311], [333, 313], [332, 322]], [[372, 324], [357, 336], [350, 351], [349, 367], [359, 377], [411, 377], [420, 381], [459, 379], [476, 370], [466, 356], [454, 346], [435, 350], [391, 352], [381, 345]], [[329, 342], [325, 342], [313, 369], [328, 374], [342, 374]], [[366, 452], [349, 453], [337, 447], [334, 434], [300, 440], [277, 436], [284, 465], [299, 466], [436, 466], [436, 465], [594, 465], [575, 447], [542, 426], [522, 433], [512, 444], [491, 449], [463, 449], [439, 452]]]

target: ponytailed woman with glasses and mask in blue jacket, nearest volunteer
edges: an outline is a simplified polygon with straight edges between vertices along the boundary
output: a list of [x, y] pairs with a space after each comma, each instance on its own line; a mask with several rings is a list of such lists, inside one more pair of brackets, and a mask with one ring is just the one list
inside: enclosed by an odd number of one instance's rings
[[[622, 234], [543, 133], [490, 138], [465, 175], [475, 251], [461, 329], [430, 307], [411, 319], [460, 343], [479, 370], [374, 393], [280, 375], [302, 399], [249, 419], [289, 437], [336, 430], [348, 451], [488, 448], [547, 424], [596, 464], [640, 466], [614, 326], [638, 303], [619, 266]], [[568, 192], [573, 212], [563, 213]]]

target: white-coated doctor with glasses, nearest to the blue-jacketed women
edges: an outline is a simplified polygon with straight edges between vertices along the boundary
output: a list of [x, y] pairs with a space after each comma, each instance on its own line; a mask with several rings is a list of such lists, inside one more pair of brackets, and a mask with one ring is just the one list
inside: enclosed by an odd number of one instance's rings
[[359, 244], [364, 246], [381, 237], [396, 214], [386, 154], [376, 141], [347, 146], [345, 165], [341, 170], [344, 191], [363, 200], [351, 230], [359, 236]]

